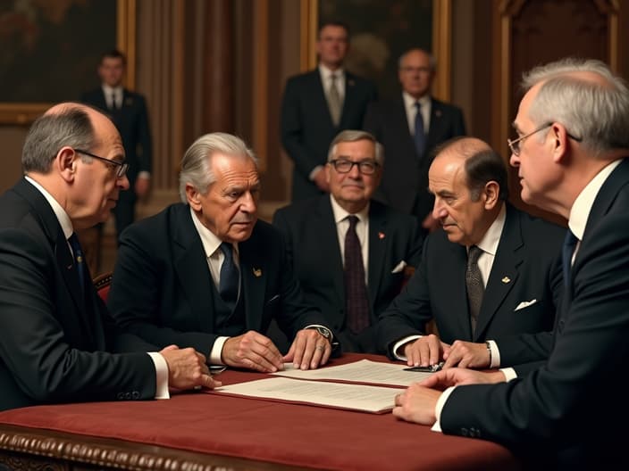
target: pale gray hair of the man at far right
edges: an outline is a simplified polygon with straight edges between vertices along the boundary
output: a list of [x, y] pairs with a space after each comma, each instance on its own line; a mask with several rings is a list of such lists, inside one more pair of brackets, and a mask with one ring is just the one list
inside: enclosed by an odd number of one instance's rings
[[[590, 72], [605, 83], [575, 75]], [[524, 74], [522, 87], [541, 84], [529, 118], [541, 126], [557, 121], [595, 154], [629, 148], [629, 90], [604, 62], [567, 58]]]

